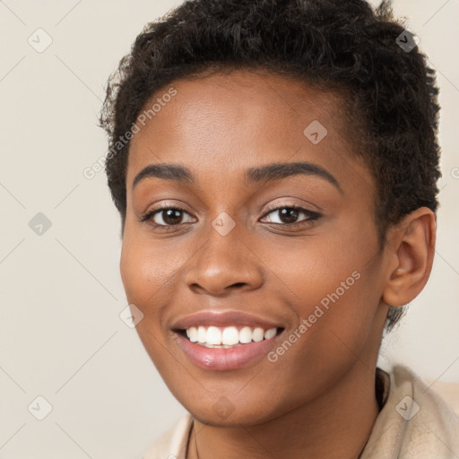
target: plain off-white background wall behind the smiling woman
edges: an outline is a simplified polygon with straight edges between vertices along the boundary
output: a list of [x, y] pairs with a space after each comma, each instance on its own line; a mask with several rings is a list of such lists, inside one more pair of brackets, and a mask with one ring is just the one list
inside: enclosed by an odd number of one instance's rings
[[[0, 459], [137, 459], [184, 411], [119, 317], [120, 221], [104, 172], [82, 173], [107, 151], [108, 74], [180, 3], [0, 1]], [[459, 0], [394, 6], [438, 71], [444, 177], [433, 273], [382, 363], [459, 382]], [[42, 52], [28, 42], [48, 36]], [[39, 212], [51, 224], [41, 235]]]

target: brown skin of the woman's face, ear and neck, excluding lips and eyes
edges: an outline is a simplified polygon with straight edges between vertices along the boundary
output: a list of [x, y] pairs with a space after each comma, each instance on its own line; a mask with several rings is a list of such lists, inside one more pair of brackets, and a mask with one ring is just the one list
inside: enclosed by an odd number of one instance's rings
[[[420, 208], [404, 217], [381, 250], [375, 182], [353, 154], [333, 92], [247, 71], [172, 86], [177, 96], [131, 143], [120, 269], [129, 303], [143, 311], [143, 345], [195, 419], [187, 458], [196, 448], [200, 459], [356, 458], [377, 418], [388, 305], [408, 303], [428, 280], [435, 215]], [[316, 145], [303, 134], [313, 120], [328, 130]], [[342, 192], [317, 176], [244, 184], [247, 168], [298, 160], [326, 169]], [[133, 191], [135, 175], [160, 162], [185, 165], [197, 185], [145, 178]], [[138, 221], [153, 204], [185, 209], [182, 222], [166, 232]], [[289, 229], [268, 208], [289, 204], [322, 216]], [[220, 212], [236, 222], [224, 237], [211, 224]], [[167, 215], [155, 221], [164, 225]], [[359, 280], [276, 362], [198, 368], [170, 330], [202, 309], [247, 311], [285, 328], [275, 349], [354, 271]], [[212, 409], [223, 395], [234, 407], [225, 419]]]

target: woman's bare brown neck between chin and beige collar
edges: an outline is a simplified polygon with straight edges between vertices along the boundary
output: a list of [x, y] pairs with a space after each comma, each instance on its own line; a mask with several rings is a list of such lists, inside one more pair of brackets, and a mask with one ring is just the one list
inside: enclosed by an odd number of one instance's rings
[[263, 424], [219, 427], [194, 420], [186, 457], [357, 459], [378, 414], [369, 368], [358, 360], [325, 394]]

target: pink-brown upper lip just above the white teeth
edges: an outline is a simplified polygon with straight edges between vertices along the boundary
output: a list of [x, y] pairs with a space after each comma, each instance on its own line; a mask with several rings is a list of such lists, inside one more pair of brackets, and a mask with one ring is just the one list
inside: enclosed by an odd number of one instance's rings
[[281, 325], [274, 323], [272, 320], [265, 319], [259, 316], [252, 316], [251, 314], [239, 311], [215, 311], [204, 310], [185, 316], [173, 323], [171, 328], [173, 330], [186, 330], [192, 326], [230, 326], [230, 325], [243, 325], [250, 327], [261, 327], [264, 330], [270, 328], [281, 328]]

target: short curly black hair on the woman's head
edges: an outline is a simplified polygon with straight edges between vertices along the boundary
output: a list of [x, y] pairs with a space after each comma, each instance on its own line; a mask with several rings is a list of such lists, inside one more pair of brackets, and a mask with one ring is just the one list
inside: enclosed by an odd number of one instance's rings
[[[356, 154], [377, 183], [382, 246], [387, 228], [404, 215], [423, 206], [437, 211], [435, 72], [388, 1], [373, 9], [365, 0], [186, 0], [144, 27], [108, 79], [100, 126], [109, 137], [108, 186], [123, 229], [126, 137], [152, 95], [178, 79], [256, 68], [346, 101], [359, 129]], [[402, 314], [392, 307], [386, 329]]]

